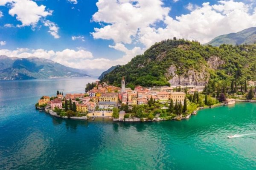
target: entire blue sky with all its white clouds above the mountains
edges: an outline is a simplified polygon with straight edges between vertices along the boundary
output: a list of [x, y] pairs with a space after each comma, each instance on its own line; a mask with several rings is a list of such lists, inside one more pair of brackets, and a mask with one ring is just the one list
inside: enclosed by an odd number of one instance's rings
[[89, 72], [125, 64], [162, 39], [205, 43], [256, 26], [254, 0], [0, 0], [0, 11], [0, 55]]

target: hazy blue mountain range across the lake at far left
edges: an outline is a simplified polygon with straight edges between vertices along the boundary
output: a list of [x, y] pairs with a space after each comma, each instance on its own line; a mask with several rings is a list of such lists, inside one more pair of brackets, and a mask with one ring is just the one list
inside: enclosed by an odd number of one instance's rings
[[0, 80], [44, 79], [88, 76], [49, 59], [0, 56]]

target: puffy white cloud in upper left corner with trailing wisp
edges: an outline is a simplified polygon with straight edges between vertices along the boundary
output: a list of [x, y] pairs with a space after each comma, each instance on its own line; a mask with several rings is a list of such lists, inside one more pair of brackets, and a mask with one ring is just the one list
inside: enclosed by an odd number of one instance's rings
[[[59, 38], [58, 35], [58, 26], [45, 18], [49, 15], [52, 15], [52, 11], [46, 9], [46, 6], [38, 6], [32, 0], [1, 0], [0, 6], [5, 6], [7, 3], [10, 4], [9, 14], [12, 17], [16, 17], [18, 21], [21, 22], [17, 27], [32, 26], [32, 29], [42, 21], [44, 26], [49, 27], [49, 33], [54, 38]], [[5, 27], [12, 27], [11, 24], [6, 24]]]

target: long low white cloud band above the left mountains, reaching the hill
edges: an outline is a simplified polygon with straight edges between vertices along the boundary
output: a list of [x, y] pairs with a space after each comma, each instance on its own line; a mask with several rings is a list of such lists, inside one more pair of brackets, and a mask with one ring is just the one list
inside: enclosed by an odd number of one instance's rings
[[72, 50], [67, 48], [63, 51], [47, 51], [44, 49], [30, 50], [28, 48], [17, 48], [16, 50], [1, 49], [0, 55], [20, 58], [39, 57], [51, 59], [52, 61], [72, 68], [106, 70], [113, 65], [126, 64], [131, 60], [132, 57], [143, 52], [143, 50], [138, 47], [134, 47], [133, 49], [129, 50], [122, 44], [116, 44], [113, 46], [110, 45], [110, 48], [122, 51], [125, 54], [119, 59], [111, 60], [103, 57], [95, 58], [90, 51], [86, 51], [81, 48], [79, 48], [79, 50]]

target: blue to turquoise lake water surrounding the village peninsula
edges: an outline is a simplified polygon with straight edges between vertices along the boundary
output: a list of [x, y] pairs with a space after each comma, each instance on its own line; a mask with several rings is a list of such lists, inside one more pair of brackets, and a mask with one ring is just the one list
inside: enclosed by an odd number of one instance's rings
[[[0, 82], [2, 170], [256, 169], [256, 104], [205, 109], [181, 122], [60, 119], [35, 102], [57, 90], [83, 92], [93, 78]], [[76, 91], [74, 91], [76, 89]]]

